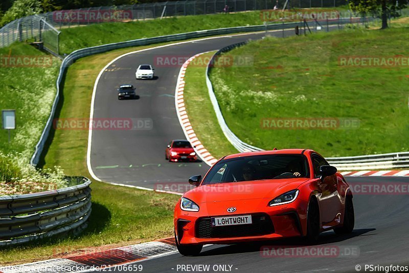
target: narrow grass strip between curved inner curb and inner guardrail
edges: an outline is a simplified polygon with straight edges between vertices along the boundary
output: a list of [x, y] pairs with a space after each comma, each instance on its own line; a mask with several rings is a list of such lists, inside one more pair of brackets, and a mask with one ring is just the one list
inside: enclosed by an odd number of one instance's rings
[[[211, 58], [215, 52], [200, 55], [203, 60]], [[212, 102], [206, 86], [206, 67], [190, 65], [185, 74], [184, 99], [189, 120], [197, 138], [212, 154], [219, 159], [228, 154], [235, 154], [237, 150], [227, 140], [217, 122]], [[214, 145], [217, 143], [217, 145]]]

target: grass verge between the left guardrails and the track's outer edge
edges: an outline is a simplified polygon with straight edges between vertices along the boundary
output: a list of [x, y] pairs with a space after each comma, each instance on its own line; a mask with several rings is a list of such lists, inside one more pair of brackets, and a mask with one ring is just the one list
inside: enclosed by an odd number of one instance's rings
[[[88, 118], [98, 73], [115, 57], [143, 48], [147, 46], [77, 60], [65, 76], [58, 118]], [[59, 165], [66, 175], [90, 177], [86, 167], [88, 131], [56, 130], [51, 135], [45, 166]], [[173, 236], [173, 208], [179, 196], [98, 181], [93, 181], [92, 190], [93, 212], [84, 233], [0, 250], [0, 264], [38, 261]]]

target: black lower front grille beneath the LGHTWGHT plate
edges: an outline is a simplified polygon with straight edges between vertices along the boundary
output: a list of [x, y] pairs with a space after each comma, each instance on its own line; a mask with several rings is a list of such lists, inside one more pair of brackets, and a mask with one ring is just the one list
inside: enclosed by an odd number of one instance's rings
[[196, 220], [195, 226], [196, 238], [232, 238], [274, 233], [271, 219], [264, 213], [253, 214], [252, 224], [212, 226], [211, 217], [203, 217]]

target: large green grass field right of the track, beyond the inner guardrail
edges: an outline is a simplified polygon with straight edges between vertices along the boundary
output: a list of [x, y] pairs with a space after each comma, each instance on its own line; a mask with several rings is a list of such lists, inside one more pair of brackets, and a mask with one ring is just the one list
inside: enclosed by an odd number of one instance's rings
[[[240, 139], [263, 149], [311, 148], [324, 156], [407, 151], [409, 67], [340, 65], [339, 57], [406, 56], [408, 30], [266, 38], [226, 53], [253, 56], [254, 64], [212, 70], [223, 116]], [[264, 118], [357, 118], [360, 124], [354, 130], [265, 130]]]

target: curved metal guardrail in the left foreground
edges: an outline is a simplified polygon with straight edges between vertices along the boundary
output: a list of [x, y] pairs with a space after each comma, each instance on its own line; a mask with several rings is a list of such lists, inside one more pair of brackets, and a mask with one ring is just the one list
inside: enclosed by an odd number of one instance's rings
[[39, 240], [86, 227], [91, 181], [56, 191], [0, 196], [0, 247]]

